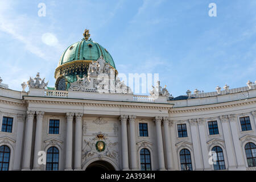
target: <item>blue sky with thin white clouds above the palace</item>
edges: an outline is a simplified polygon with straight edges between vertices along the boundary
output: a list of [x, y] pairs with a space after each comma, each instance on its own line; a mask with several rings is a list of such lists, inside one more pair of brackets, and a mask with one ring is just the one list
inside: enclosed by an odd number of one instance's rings
[[[211, 2], [217, 17], [208, 15]], [[256, 80], [255, 10], [255, 0], [1, 0], [0, 77], [22, 90], [40, 72], [54, 86], [61, 54], [88, 28], [119, 73], [159, 73], [174, 96], [246, 86]]]

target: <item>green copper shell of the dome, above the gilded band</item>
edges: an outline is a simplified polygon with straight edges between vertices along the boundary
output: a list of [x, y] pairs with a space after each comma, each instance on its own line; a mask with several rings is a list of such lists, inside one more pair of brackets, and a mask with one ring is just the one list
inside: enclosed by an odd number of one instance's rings
[[97, 61], [100, 56], [106, 60], [106, 63], [115, 68], [112, 56], [104, 47], [93, 41], [82, 40], [72, 44], [65, 50], [63, 55], [60, 57], [58, 67], [76, 60]]

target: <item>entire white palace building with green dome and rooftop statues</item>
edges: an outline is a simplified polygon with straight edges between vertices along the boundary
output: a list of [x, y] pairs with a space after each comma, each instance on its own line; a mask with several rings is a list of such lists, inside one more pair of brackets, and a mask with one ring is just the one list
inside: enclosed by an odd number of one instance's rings
[[135, 95], [89, 36], [61, 55], [55, 88], [0, 78], [0, 171], [256, 170], [255, 83]]

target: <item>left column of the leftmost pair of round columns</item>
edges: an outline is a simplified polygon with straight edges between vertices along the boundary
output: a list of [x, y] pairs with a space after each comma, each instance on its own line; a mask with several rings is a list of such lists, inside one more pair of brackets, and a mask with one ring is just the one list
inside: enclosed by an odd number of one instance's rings
[[22, 170], [30, 170], [30, 157], [32, 147], [33, 120], [35, 111], [27, 111], [26, 131], [24, 137], [24, 151]]

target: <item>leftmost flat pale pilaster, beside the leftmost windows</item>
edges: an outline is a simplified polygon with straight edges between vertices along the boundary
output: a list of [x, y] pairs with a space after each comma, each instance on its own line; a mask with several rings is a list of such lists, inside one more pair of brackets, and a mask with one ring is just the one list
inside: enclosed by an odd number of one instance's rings
[[18, 118], [18, 127], [17, 127], [17, 139], [16, 139], [16, 146], [15, 146], [14, 166], [13, 166], [14, 171], [20, 170], [25, 115], [18, 114], [17, 118]]

